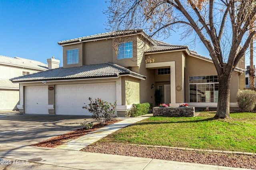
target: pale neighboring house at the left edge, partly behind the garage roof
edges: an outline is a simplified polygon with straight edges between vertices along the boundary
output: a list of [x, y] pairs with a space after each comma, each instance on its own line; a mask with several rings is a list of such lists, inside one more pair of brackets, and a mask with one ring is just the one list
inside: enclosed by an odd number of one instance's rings
[[0, 55], [0, 111], [16, 110], [19, 102], [19, 84], [10, 78], [48, 70], [47, 64], [20, 57]]

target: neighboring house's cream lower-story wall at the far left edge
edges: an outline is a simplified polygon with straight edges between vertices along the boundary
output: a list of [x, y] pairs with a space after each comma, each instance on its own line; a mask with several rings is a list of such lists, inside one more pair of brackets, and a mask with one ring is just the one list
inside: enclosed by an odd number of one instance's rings
[[17, 109], [19, 102], [19, 90], [0, 89], [0, 110]]

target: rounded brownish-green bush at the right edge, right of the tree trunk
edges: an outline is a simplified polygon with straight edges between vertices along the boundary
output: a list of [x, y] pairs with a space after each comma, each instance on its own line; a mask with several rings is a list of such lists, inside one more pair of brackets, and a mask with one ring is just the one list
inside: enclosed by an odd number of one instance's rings
[[242, 90], [236, 96], [240, 111], [252, 111], [256, 104], [256, 92], [253, 90]]

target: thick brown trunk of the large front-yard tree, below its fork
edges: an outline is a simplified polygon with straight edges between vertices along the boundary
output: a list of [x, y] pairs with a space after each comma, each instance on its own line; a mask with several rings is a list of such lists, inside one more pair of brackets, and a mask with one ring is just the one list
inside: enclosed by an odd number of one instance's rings
[[[232, 73], [231, 73], [232, 74]], [[215, 118], [229, 119], [230, 101], [230, 79], [231, 76], [219, 76], [218, 106]]]

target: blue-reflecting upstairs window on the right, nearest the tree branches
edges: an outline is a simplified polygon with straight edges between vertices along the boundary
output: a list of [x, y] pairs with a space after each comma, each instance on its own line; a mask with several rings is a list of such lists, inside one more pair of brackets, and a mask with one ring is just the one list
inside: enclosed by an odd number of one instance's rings
[[132, 42], [122, 43], [118, 47], [117, 59], [132, 58]]

